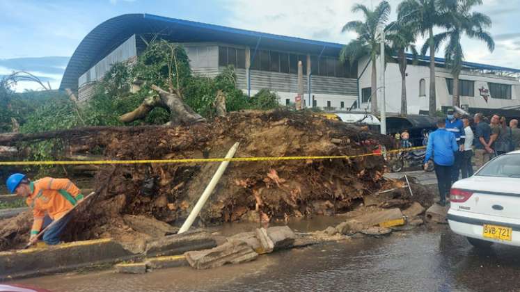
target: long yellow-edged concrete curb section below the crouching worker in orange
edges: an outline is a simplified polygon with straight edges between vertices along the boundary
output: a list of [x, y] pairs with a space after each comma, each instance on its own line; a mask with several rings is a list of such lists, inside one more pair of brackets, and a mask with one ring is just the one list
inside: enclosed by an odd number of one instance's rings
[[[0, 252], [0, 281], [117, 263], [138, 257], [111, 238]], [[45, 261], [42, 261], [45, 259]]]

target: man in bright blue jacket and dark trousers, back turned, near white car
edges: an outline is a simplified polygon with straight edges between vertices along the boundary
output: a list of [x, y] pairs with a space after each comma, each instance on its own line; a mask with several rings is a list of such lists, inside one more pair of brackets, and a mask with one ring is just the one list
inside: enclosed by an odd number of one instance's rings
[[455, 134], [446, 130], [446, 120], [439, 119], [437, 127], [439, 129], [431, 133], [428, 139], [425, 170], [428, 161], [433, 157], [439, 195], [441, 196], [439, 204], [446, 206], [446, 197], [450, 195], [452, 184], [452, 166], [455, 162], [455, 152], [459, 151], [459, 145], [457, 145]]

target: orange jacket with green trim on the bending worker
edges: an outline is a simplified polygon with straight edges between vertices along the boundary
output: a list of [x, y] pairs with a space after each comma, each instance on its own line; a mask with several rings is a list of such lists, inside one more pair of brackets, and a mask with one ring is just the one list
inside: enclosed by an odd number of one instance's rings
[[33, 209], [34, 216], [31, 235], [38, 234], [42, 229], [45, 213], [52, 220], [57, 220], [72, 209], [77, 201], [83, 199], [79, 188], [69, 179], [44, 177], [38, 181], [31, 181], [29, 188], [31, 188], [31, 195], [26, 203]]

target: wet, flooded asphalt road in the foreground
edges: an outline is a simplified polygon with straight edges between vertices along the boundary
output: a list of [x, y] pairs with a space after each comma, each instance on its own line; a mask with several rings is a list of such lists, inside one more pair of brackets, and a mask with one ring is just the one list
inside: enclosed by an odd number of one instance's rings
[[53, 291], [520, 291], [520, 248], [479, 251], [448, 227], [356, 238], [213, 270], [21, 281]]

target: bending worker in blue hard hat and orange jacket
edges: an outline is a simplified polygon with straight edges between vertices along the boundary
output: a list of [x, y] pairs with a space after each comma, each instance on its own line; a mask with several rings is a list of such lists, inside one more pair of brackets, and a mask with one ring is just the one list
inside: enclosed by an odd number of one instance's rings
[[31, 181], [21, 173], [10, 175], [6, 184], [11, 193], [24, 197], [26, 204], [33, 211], [33, 227], [29, 243], [36, 243], [37, 235], [43, 228], [63, 218], [43, 234], [43, 241], [47, 245], [60, 243], [61, 233], [71, 219], [67, 212], [84, 199], [79, 188], [69, 179], [44, 177]]

